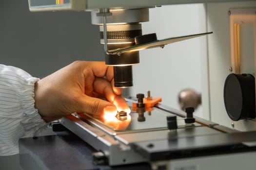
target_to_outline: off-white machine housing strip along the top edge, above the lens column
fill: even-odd
[[[223,0],[29,0],[29,7],[31,11],[90,11],[100,8],[133,9],[145,7],[148,8],[168,4],[207,3],[222,1]]]

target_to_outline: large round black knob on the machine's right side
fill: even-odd
[[[252,74],[229,74],[224,84],[224,104],[230,119],[255,118],[255,78]]]

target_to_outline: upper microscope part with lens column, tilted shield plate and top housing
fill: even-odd
[[[169,43],[211,34],[209,32],[158,40],[154,33],[142,35],[141,22],[149,21],[149,8],[160,6],[161,2],[144,2],[133,6],[130,5],[132,2],[128,5],[127,2],[117,1],[113,4],[106,3],[102,8],[98,6],[101,3],[101,1],[86,0],[29,1],[31,11],[90,11],[92,24],[99,25],[100,43],[104,44],[105,63],[114,66],[115,87],[133,86],[132,66],[139,63],[140,50],[164,48]]]

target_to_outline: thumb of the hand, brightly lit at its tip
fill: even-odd
[[[104,114],[116,116],[117,114],[117,107],[113,103],[87,95],[84,95],[82,100],[79,101],[79,110],[92,116]]]

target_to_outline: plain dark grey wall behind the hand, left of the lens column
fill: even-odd
[[[75,60],[104,60],[90,13],[32,13],[27,0],[0,0],[0,64],[42,78]],[[22,170],[19,156],[0,156],[0,170]]]

